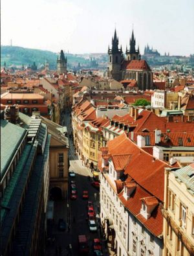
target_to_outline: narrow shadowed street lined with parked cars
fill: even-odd
[[[72,131],[70,124],[70,112],[63,115],[62,125],[67,126],[68,134]],[[100,221],[98,215],[99,204],[99,191],[92,187],[91,181],[88,176],[92,177],[92,172],[87,167],[83,167],[81,159],[75,155],[74,145],[72,139],[69,137],[69,170],[74,170],[76,176],[74,178],[69,177],[70,180],[76,181],[76,187],[78,190],[78,198],[76,200],[70,200],[68,196],[67,201],[60,200],[54,202],[54,224],[52,225],[52,238],[54,241],[47,246],[47,255],[79,255],[78,253],[78,235],[86,235],[89,241],[89,254],[93,254],[93,239],[100,238]],[[89,192],[89,199],[93,202],[94,211],[96,213],[96,224],[98,231],[91,233],[89,231],[89,224],[87,220],[87,199],[82,198],[83,191]],[[68,191],[70,194],[70,191]],[[67,222],[66,231],[58,230],[58,220],[63,218]],[[69,226],[69,229],[68,229]],[[72,251],[67,251],[67,246],[71,244]],[[103,251],[105,252],[104,244],[102,242]],[[60,251],[60,253],[59,253]],[[103,255],[107,255],[103,253]]]

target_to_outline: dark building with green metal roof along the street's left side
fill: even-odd
[[[40,120],[21,114],[8,122],[3,115],[1,255],[44,255],[50,135]]]

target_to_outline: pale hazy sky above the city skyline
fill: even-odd
[[[1,45],[107,52],[114,28],[125,50],[134,26],[143,53],[194,53],[194,0],[1,0]],[[138,46],[136,45],[136,47]]]

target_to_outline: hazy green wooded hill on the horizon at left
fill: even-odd
[[[65,54],[67,56],[67,67],[70,69],[74,66],[87,65],[89,60],[76,56],[74,54]],[[6,62],[6,67],[11,65],[14,66],[27,66],[32,65],[36,62],[38,67],[45,64],[47,60],[50,69],[56,69],[56,60],[58,54],[50,51],[42,51],[38,49],[28,49],[18,46],[3,46],[1,45],[1,67],[3,67],[4,62]]]

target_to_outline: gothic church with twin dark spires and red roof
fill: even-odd
[[[135,49],[135,37],[132,31],[129,49],[126,47],[126,59],[122,51],[122,47],[118,47],[118,37],[116,29],[112,39],[112,49],[108,49],[109,67],[108,76],[117,81],[120,80],[136,80],[138,89],[146,90],[153,87],[153,73],[146,60],[141,60],[139,47]]]

